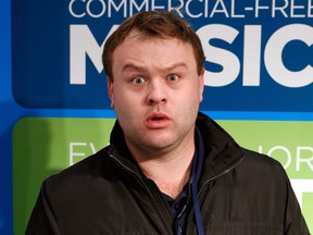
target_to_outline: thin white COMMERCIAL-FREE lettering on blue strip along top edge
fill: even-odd
[[[238,3],[238,4],[237,4]],[[241,9],[239,9],[241,8]],[[254,17],[271,13],[272,17],[312,17],[312,0],[70,0],[68,12],[73,17],[112,17],[123,13],[129,17],[138,11],[174,11],[180,17],[233,17],[245,18],[250,12]],[[240,12],[240,13],[238,13]],[[249,14],[250,15],[250,14]]]

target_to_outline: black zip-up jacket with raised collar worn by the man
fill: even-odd
[[[199,180],[205,234],[310,234],[281,165],[240,148],[199,114],[206,145]],[[197,234],[192,200],[187,234]],[[142,176],[116,122],[111,145],[42,184],[26,234],[174,234],[175,220],[156,185]]]

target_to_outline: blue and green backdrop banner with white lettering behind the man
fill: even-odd
[[[42,181],[109,144],[103,45],[150,10],[190,23],[205,53],[201,111],[281,163],[313,231],[312,0],[3,2],[0,234],[24,234]]]

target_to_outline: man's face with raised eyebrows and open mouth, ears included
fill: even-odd
[[[197,74],[192,47],[133,32],[112,61],[109,96],[130,151],[162,153],[193,145],[203,72]]]

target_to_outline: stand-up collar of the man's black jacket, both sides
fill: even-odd
[[[213,120],[199,112],[197,127],[200,129],[205,158],[200,177],[200,185],[231,170],[243,158],[243,151],[238,144]],[[127,169],[140,174],[139,168],[132,157],[123,129],[116,120],[111,132],[109,153]]]

